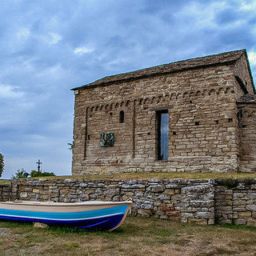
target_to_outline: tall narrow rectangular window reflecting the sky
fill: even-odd
[[[169,114],[168,110],[157,111],[158,118],[158,160],[168,160]]]

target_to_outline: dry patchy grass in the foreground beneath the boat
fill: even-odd
[[[0,255],[256,255],[256,228],[127,217],[113,232],[0,222]]]

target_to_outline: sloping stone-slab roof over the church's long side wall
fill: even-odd
[[[222,54],[214,54],[209,55],[206,57],[201,58],[190,58],[184,61],[180,62],[172,62],[169,64],[164,64],[160,66],[153,66],[150,68],[137,70],[133,72],[128,72],[124,74],[116,74],[107,76],[105,78],[101,78],[95,82],[91,82],[84,86],[76,87],[72,90],[78,90],[82,88],[90,88],[94,86],[102,86],[106,85],[110,82],[118,82],[118,81],[124,81],[124,80],[130,80],[134,78],[143,78],[150,75],[156,75],[156,74],[165,74],[165,73],[172,73],[178,70],[188,70],[192,68],[202,67],[202,66],[211,66],[216,64],[222,64],[227,62],[235,62],[238,58],[241,57],[242,54],[246,54],[246,50],[234,50]]]

